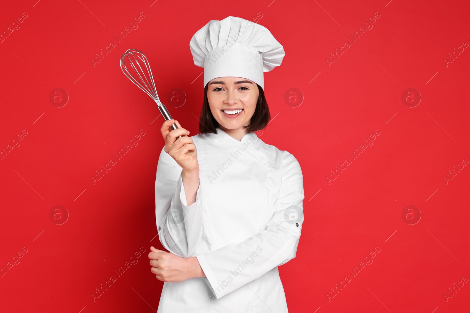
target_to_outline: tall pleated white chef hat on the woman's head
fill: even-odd
[[[281,65],[284,48],[266,27],[240,17],[211,20],[189,42],[204,87],[217,77],[248,78],[264,90],[263,72]]]

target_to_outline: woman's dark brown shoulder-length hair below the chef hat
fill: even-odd
[[[253,116],[251,116],[250,125],[243,126],[243,128],[248,128],[248,132],[264,129],[271,119],[263,88],[261,88],[258,84],[256,85],[258,86],[259,95],[258,101],[256,102],[255,112],[253,113]],[[207,99],[207,90],[209,88],[208,86],[209,83],[207,83],[204,87],[204,102],[201,115],[199,117],[199,133],[217,134],[216,128],[219,127],[219,122],[217,122],[212,115],[211,107],[209,106],[209,100]]]

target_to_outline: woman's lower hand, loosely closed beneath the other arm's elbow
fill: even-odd
[[[150,247],[149,259],[150,271],[162,282],[183,282],[205,276],[196,257],[181,258],[172,252]]]

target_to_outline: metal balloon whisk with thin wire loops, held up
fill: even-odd
[[[166,109],[165,105],[158,99],[157,88],[155,88],[155,82],[153,81],[152,70],[150,69],[149,60],[142,51],[137,49],[128,49],[122,56],[120,61],[121,69],[127,78],[134,84],[147,93],[150,98],[158,105],[160,113],[163,115],[166,121],[171,120],[172,116]],[[178,126],[173,123],[170,126],[172,130],[176,130]],[[183,137],[183,135],[178,136]]]

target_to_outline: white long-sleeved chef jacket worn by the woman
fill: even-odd
[[[164,282],[157,313],[288,312],[277,267],[295,258],[304,221],[298,161],[254,132],[191,138],[196,202],[187,205],[182,168],[162,148],[156,221],[164,248],[196,256],[206,277]]]

